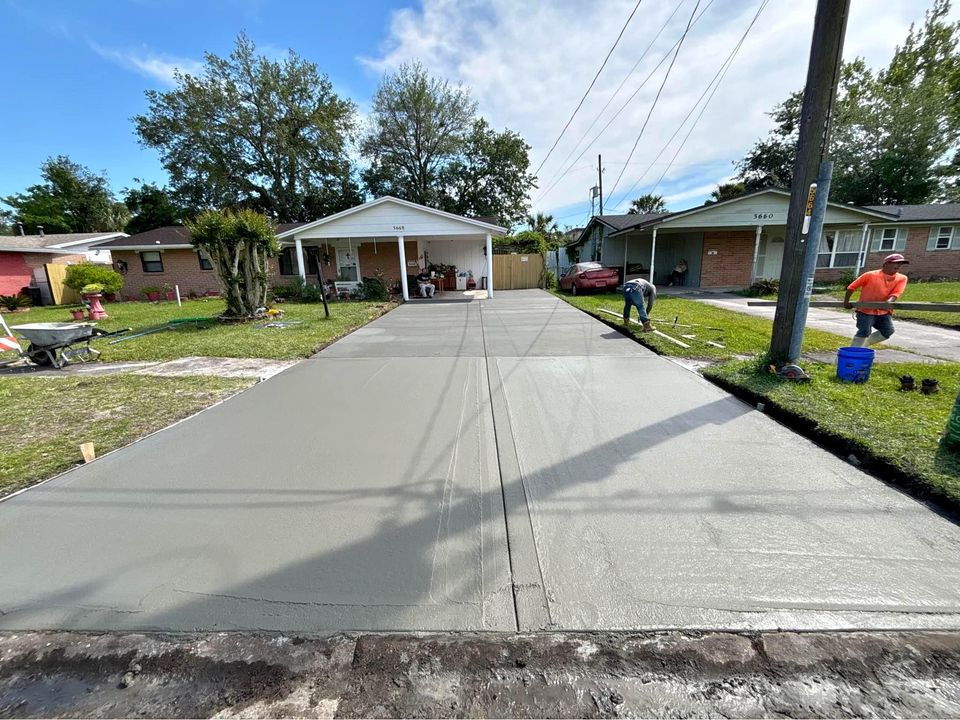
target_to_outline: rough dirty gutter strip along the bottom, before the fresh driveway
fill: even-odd
[[[957,717],[956,633],[0,636],[0,717]]]

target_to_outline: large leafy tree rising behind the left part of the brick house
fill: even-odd
[[[137,134],[188,206],[294,222],[362,201],[347,156],[353,103],[293,51],[270,60],[241,33],[229,57],[208,53],[198,76],[178,72],[174,90],[146,95]]]

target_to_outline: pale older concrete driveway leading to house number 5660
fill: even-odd
[[[732,293],[710,293],[702,291],[684,291],[677,293],[664,293],[675,295],[677,297],[697,300],[699,302],[714,305],[716,307],[741,312],[746,315],[756,315],[773,320],[773,314],[776,308],[773,307],[750,307],[748,302],[755,298],[746,298]],[[853,318],[849,312],[836,312],[825,310],[823,308],[810,308],[807,314],[807,327],[825,330],[826,332],[842,335],[844,337],[853,337],[856,327]],[[933,327],[931,325],[920,325],[909,320],[896,321],[896,333],[890,340],[890,344],[906,350],[909,353],[921,355],[924,358],[935,358],[938,360],[947,360],[950,362],[960,362],[960,332],[948,330],[946,328]],[[875,349],[883,350],[884,345],[874,346]],[[896,353],[894,356],[893,353]],[[896,350],[886,349],[883,355],[890,355],[888,361],[894,362],[923,362],[922,358],[911,358],[904,353],[898,353]],[[880,360],[880,358],[878,358]]]

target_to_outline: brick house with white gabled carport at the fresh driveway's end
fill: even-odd
[[[310,223],[277,226],[280,255],[271,259],[273,284],[296,277],[351,286],[382,274],[400,284],[409,299],[409,276],[430,264],[453,265],[471,273],[477,286],[491,273],[493,236],[507,229],[489,218],[466,218],[423,205],[382,197]],[[162,227],[101,243],[114,268],[125,276],[123,296],[137,297],[147,286],[179,286],[206,294],[218,283],[209,258],[190,244],[185,227]]]

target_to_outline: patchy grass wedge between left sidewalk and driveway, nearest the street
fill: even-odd
[[[80,444],[98,455],[192,415],[250,380],[4,377],[0,380],[0,495],[82,462]]]

